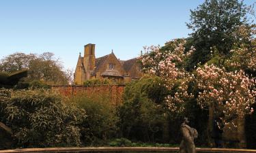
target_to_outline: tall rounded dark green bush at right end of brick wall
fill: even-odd
[[[167,89],[161,83],[159,78],[145,77],[126,86],[124,104],[119,107],[119,126],[124,137],[144,142],[166,141],[167,114],[161,103]]]

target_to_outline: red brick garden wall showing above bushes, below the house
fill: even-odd
[[[115,105],[122,103],[124,87],[125,85],[51,86],[53,90],[58,90],[64,96],[77,94],[109,95],[111,97],[111,102]]]

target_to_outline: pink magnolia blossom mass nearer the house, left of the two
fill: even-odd
[[[145,73],[158,75],[165,80],[165,86],[173,93],[166,97],[166,102],[171,112],[182,112],[184,102],[193,97],[187,92],[188,82],[193,80],[184,69],[184,61],[195,50],[193,47],[185,52],[186,41],[173,40],[168,42],[173,50],[160,50],[160,46],[144,47],[144,54],[139,57]],[[177,87],[177,88],[176,88]]]

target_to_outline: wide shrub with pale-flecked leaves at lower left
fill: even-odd
[[[14,147],[79,146],[83,109],[52,90],[1,90],[1,122],[9,126]],[[43,132],[42,132],[43,131]]]

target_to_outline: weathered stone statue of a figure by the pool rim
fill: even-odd
[[[188,126],[188,118],[184,118],[184,122],[181,125],[182,142],[180,143],[180,153],[195,153],[194,139],[198,137],[196,129]]]

